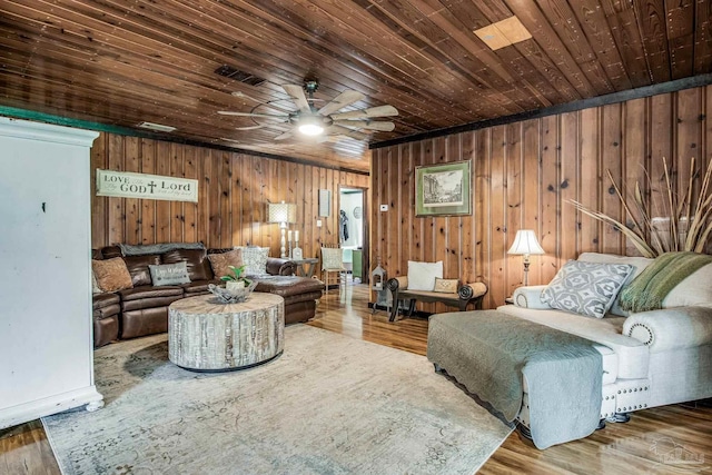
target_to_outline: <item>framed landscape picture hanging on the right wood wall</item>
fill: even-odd
[[[415,216],[472,214],[472,160],[415,168]]]

